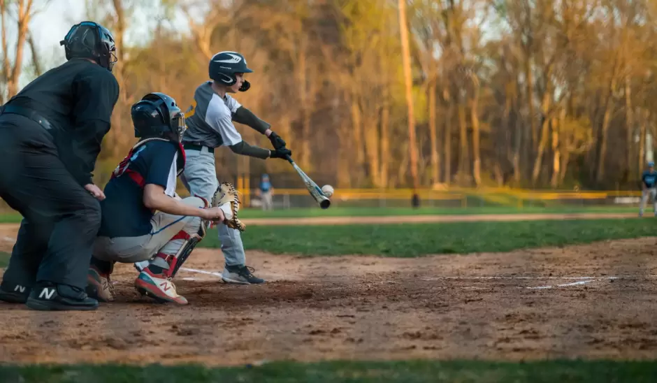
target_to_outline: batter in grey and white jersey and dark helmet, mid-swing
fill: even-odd
[[[188,114],[187,131],[182,138],[187,152],[187,166],[181,180],[193,196],[210,198],[217,189],[215,147],[227,146],[236,154],[259,159],[285,159],[291,152],[285,141],[269,129],[270,124],[260,120],[250,110],[233,99],[229,93],[246,92],[250,83],[244,73],[253,71],[247,67],[243,55],[238,52],[219,52],[209,64],[212,81],[204,82],[194,92],[194,112]],[[263,149],[246,143],[233,125],[233,121],[245,124],[269,138],[274,150]],[[264,282],[253,275],[246,266],[244,245],[240,231],[219,225],[219,240],[226,260],[222,279],[227,283],[258,284]],[[144,263],[137,263],[140,270]]]

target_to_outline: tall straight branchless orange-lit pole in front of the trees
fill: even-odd
[[[402,62],[404,67],[404,82],[406,85],[406,106],[408,110],[408,150],[410,155],[410,170],[413,178],[413,190],[415,191],[419,189],[419,179],[417,178],[417,143],[415,138],[415,112],[413,108],[411,57],[408,41],[408,24],[406,22],[406,0],[398,0],[398,7]]]

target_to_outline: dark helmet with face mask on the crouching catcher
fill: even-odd
[[[175,100],[164,93],[149,93],[143,96],[131,109],[135,137],[164,137],[174,133],[178,142],[185,133],[185,114],[175,104]]]

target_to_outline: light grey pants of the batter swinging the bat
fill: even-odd
[[[208,152],[207,147],[203,147],[202,150],[186,150],[185,154],[187,157],[185,173],[180,176],[180,180],[192,196],[212,201],[212,195],[219,187],[215,171],[215,154]],[[240,231],[224,224],[218,224],[216,227],[226,266],[243,266],[246,263],[246,255]]]

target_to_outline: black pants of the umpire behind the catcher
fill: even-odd
[[[100,204],[59,159],[51,134],[21,115],[0,115],[0,197],[24,217],[3,285],[84,289]]]

